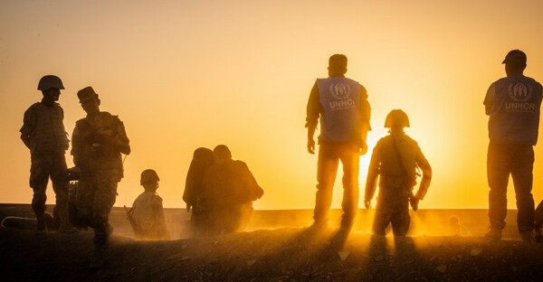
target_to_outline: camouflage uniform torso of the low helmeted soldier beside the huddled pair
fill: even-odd
[[[166,240],[169,238],[162,198],[155,192],[144,192],[132,204],[132,216],[138,224],[140,239]]]

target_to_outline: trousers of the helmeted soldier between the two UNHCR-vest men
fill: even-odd
[[[386,227],[392,224],[395,236],[405,236],[409,230],[409,200],[406,197],[378,197],[376,215],[373,223],[373,233],[385,236]]]

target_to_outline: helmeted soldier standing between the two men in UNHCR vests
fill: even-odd
[[[416,141],[405,135],[404,127],[409,127],[409,118],[403,110],[392,110],[386,116],[385,127],[390,128],[389,135],[377,142],[367,169],[364,205],[367,209],[371,206],[379,177],[373,233],[385,236],[386,227],[391,223],[395,236],[405,236],[411,221],[409,202],[416,211],[418,201],[424,199],[430,186],[432,167]],[[417,167],[422,170],[423,179],[414,195]]]

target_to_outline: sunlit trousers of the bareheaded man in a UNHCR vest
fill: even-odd
[[[319,162],[317,164],[317,193],[313,219],[316,223],[329,219],[332,191],[338,172],[338,164],[343,165],[343,215],[341,225],[352,225],[358,210],[358,161],[359,147],[353,143],[319,144]]]

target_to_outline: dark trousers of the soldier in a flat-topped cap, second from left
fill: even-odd
[[[119,174],[81,174],[75,204],[78,221],[94,229],[94,244],[104,246],[110,237],[110,211],[117,197]]]

